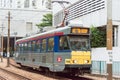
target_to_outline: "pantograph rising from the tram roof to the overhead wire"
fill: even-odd
[[[70,2],[68,2],[68,1],[52,1],[52,3],[59,3],[60,4],[60,6],[63,8],[63,10],[64,10],[64,18],[63,18],[63,20],[62,20],[62,23],[60,24],[60,27],[64,27],[65,26],[65,19],[66,19],[66,17],[67,17],[67,15],[69,14],[69,11],[65,8],[65,5],[64,5],[64,3],[65,4],[70,4]]]

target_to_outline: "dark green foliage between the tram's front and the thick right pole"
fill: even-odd
[[[106,30],[91,28],[91,47],[105,47],[106,46]]]

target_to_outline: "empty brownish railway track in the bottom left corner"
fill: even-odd
[[[11,72],[11,71],[2,69],[2,68],[0,68],[0,71],[2,71],[2,72],[4,73],[4,75],[6,75],[6,76],[7,76],[7,75],[8,75],[8,76],[11,76],[11,77],[12,77],[13,79],[15,79],[15,80],[31,80],[31,79],[29,79],[29,78],[27,78],[27,77],[21,76],[21,75],[19,75],[19,74],[17,74],[17,73],[14,73],[14,72]],[[0,80],[8,80],[8,79],[0,76]]]

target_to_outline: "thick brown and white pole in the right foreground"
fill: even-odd
[[[112,25],[112,0],[107,0],[107,80],[112,80],[112,44],[113,44],[113,25]]]

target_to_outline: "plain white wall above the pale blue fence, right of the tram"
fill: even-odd
[[[120,61],[120,48],[113,47],[112,50],[113,61]],[[92,48],[92,60],[94,61],[107,61],[109,59],[106,47]]]

